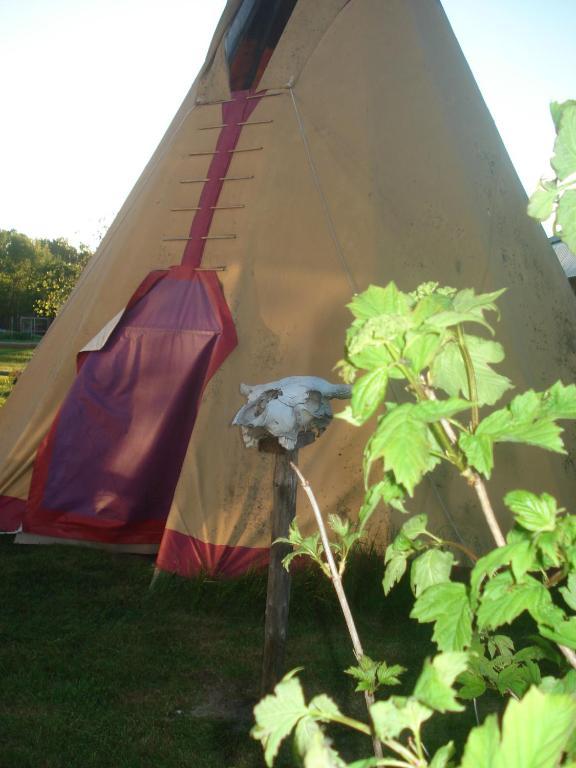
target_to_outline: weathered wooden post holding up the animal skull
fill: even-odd
[[[264,441],[263,441],[264,442]],[[268,442],[268,441],[266,441]],[[298,461],[298,449],[288,451],[274,440],[261,450],[274,452],[274,500],[272,507],[272,542],[288,536],[290,523],[296,514],[298,480],[290,467]],[[262,664],[262,695],[270,693],[283,674],[288,610],[290,607],[290,573],[282,560],[291,551],[289,544],[271,544],[266,594],[266,623],[264,628],[264,660]]]

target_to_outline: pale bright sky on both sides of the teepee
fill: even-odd
[[[548,103],[576,98],[576,0],[442,4],[532,191],[551,154]],[[0,229],[94,245],[194,80],[224,5],[0,0]]]

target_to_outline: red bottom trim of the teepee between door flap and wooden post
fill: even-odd
[[[211,576],[240,576],[255,568],[268,565],[268,547],[229,547],[209,544],[178,531],[166,529],[156,559],[163,571],[190,578],[200,573]]]

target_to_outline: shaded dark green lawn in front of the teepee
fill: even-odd
[[[259,694],[265,576],[234,582],[163,575],[151,560],[0,541],[0,765],[4,768],[256,768],[248,731]],[[365,651],[409,668],[429,630],[408,618],[401,586],[381,593],[381,564],[361,558],[347,579]],[[350,644],[328,583],[295,574],[286,668],[304,666],[308,695],[325,691],[365,718],[342,670]],[[481,704],[487,708],[493,704]],[[485,710],[486,711],[486,710]],[[472,711],[425,730],[429,748],[462,740]],[[349,757],[365,739],[331,730]],[[289,746],[278,763],[293,764]]]

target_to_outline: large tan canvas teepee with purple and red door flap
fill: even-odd
[[[157,551],[184,575],[264,563],[272,458],[230,427],[240,383],[333,379],[345,304],[370,283],[507,287],[505,372],[522,388],[572,381],[576,304],[525,210],[438,0],[229,0],[0,414],[3,527]],[[325,511],[358,509],[367,430],[334,423],[302,452]],[[563,457],[510,447],[498,466],[495,499],[574,497]],[[449,473],[411,507],[448,538],[489,541]],[[383,514],[374,537],[395,524]]]

